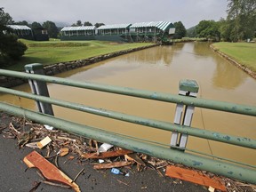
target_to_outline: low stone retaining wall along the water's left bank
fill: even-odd
[[[158,44],[151,44],[148,46],[141,46],[133,49],[128,49],[128,50],[123,50],[119,52],[111,52],[107,54],[103,54],[100,56],[95,56],[91,58],[87,58],[84,60],[72,60],[72,61],[67,61],[67,62],[60,62],[60,63],[55,63],[51,65],[45,65],[44,66],[44,74],[46,76],[54,76],[56,74],[72,70],[74,68],[81,68],[87,65],[91,65],[96,62],[100,62],[101,60],[108,60],[110,58],[114,58],[120,55],[124,55],[130,52],[137,52],[140,50],[148,49],[154,46],[157,46]],[[11,76],[0,76],[0,86],[3,87],[14,87],[20,84],[25,84],[28,83],[27,79],[20,79],[20,78],[15,78]]]

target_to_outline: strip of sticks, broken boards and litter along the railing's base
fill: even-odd
[[[37,167],[40,170],[41,173],[38,172],[38,174],[42,177],[44,183],[63,188],[73,188],[75,191],[80,191],[75,181],[84,169],[76,175],[75,179],[71,180],[59,169],[58,158],[60,156],[68,156],[65,162],[76,159],[80,164],[92,164],[95,170],[109,169],[113,174],[120,174],[126,177],[130,176],[129,173],[132,172],[131,166],[133,165],[136,166],[138,172],[150,168],[156,170],[161,177],[164,177],[162,172],[165,172],[165,176],[177,179],[173,181],[173,184],[182,184],[181,180],[188,180],[205,185],[206,178],[208,183],[210,183],[209,185],[205,185],[209,187],[209,191],[256,191],[254,185],[246,185],[224,177],[217,178],[209,172],[199,172],[188,167],[185,168],[180,164],[173,164],[156,157],[134,153],[128,149],[82,138],[68,132],[54,129],[48,130],[42,124],[34,124],[15,116],[12,116],[12,122],[8,126],[0,124],[1,133],[4,138],[17,139],[19,148],[35,148],[35,151],[24,157],[24,162],[28,167]],[[39,153],[43,154],[43,150],[44,156],[41,156]],[[55,165],[49,161],[52,161]],[[54,172],[50,172],[47,167],[52,167]],[[124,171],[122,167],[130,171]],[[193,176],[189,178],[189,173],[198,175],[196,178],[199,178],[199,175],[200,177],[202,176],[200,178],[201,181],[195,181],[195,177],[193,178]],[[211,181],[212,178],[214,181],[219,180],[219,188]],[[211,183],[214,186],[211,186]],[[34,189],[39,185],[40,182],[36,182]]]

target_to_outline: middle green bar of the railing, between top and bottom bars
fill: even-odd
[[[167,122],[156,121],[148,118],[142,118],[140,116],[130,116],[124,113],[118,113],[116,111],[111,111],[111,110],[101,109],[101,108],[92,108],[82,104],[68,102],[65,100],[56,100],[53,98],[39,96],[39,95],[31,94],[28,92],[20,92],[20,91],[16,91],[16,90],[4,88],[4,87],[0,87],[0,92],[10,93],[10,94],[17,95],[20,97],[25,97],[31,100],[39,100],[47,103],[52,103],[54,105],[58,105],[64,108],[72,108],[72,109],[84,111],[84,112],[91,113],[98,116],[106,116],[109,118],[114,118],[117,120],[129,122],[132,124],[141,124],[141,125],[150,126],[150,127],[154,127],[154,128],[165,130],[165,131],[171,131],[171,132],[186,133],[188,135],[196,136],[199,138],[216,140],[216,141],[229,143],[236,146],[241,146],[244,148],[253,148],[253,149],[256,148],[256,140],[252,140],[249,138],[236,137],[232,135],[222,134],[220,132],[202,130],[195,127],[180,126],[178,124],[171,124]]]

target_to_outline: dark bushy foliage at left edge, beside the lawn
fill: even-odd
[[[0,8],[0,66],[19,60],[27,50],[27,46],[18,41],[17,36],[7,33],[11,32],[11,28],[6,27],[8,24],[13,24],[12,17]]]

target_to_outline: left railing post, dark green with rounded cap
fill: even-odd
[[[29,74],[44,75],[44,67],[40,63],[28,64],[25,66],[25,70],[26,73]],[[49,97],[47,84],[45,82],[28,79],[28,83],[34,94]],[[39,112],[54,116],[51,104],[36,100],[36,105]]]

